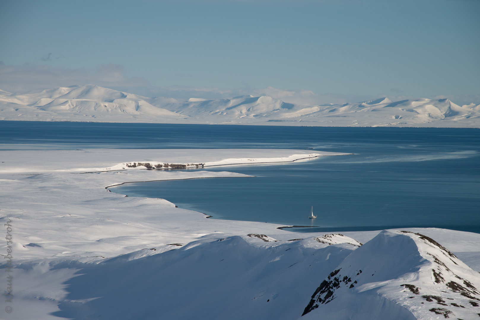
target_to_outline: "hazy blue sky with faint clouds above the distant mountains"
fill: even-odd
[[[1,0],[0,89],[478,103],[479,16],[479,0]]]

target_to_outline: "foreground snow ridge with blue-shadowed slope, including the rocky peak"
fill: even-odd
[[[150,254],[143,258],[77,264],[82,275],[67,282],[70,293],[57,315],[112,320],[135,315],[182,320],[478,318],[479,273],[431,238],[383,231],[359,248],[352,238],[325,236],[336,237],[337,244],[318,237],[281,241],[209,235],[160,254],[144,249]],[[321,284],[315,289],[316,283]],[[125,295],[120,290],[125,287],[139,290]]]

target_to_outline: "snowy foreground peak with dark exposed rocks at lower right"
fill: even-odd
[[[430,237],[383,231],[320,283],[302,316],[317,319],[355,299],[357,305],[368,303],[377,319],[409,319],[407,310],[412,319],[477,319],[479,288],[479,273]],[[384,310],[388,304],[390,316]],[[359,309],[343,308],[338,319],[350,319]]]

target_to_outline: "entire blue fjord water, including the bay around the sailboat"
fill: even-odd
[[[3,150],[284,148],[353,153],[201,169],[253,178],[126,183],[110,190],[164,198],[211,219],[318,226],[287,229],[298,232],[441,227],[480,233],[479,129],[0,121],[0,136]],[[308,218],[311,206],[317,219]]]

